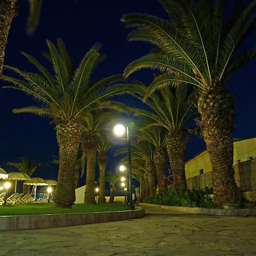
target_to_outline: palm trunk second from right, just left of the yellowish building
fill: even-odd
[[[183,137],[182,130],[169,131],[166,148],[170,159],[174,187],[187,189],[185,177],[185,151],[187,141]]]

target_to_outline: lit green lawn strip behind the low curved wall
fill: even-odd
[[[127,210],[126,204],[75,204],[72,209],[55,208],[53,203],[1,205],[0,216],[6,215],[37,215],[59,213],[115,212]]]

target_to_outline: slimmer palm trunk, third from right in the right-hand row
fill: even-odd
[[[163,147],[156,147],[154,152],[154,164],[156,177],[158,179],[158,191],[162,193],[166,191],[167,184],[163,184],[162,180],[164,180],[164,175],[166,175],[166,165],[167,165],[167,155],[166,150]]]

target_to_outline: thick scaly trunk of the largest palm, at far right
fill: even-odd
[[[210,155],[214,201],[218,207],[238,200],[233,169],[233,113],[231,94],[220,86],[201,94],[201,130]]]

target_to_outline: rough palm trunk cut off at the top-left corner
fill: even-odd
[[[0,1],[0,77],[3,72],[3,62],[5,60],[5,48],[11,27],[11,22],[16,14],[18,0]]]

